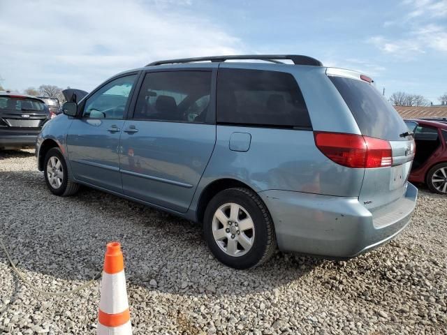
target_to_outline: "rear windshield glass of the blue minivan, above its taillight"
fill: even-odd
[[[351,110],[362,135],[388,141],[406,140],[404,120],[372,84],[346,77],[329,77]]]

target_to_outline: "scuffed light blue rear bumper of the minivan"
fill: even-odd
[[[274,221],[279,249],[351,258],[399,234],[411,220],[418,189],[374,212],[358,198],[291,191],[259,193]]]

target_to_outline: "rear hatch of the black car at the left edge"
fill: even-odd
[[[0,131],[36,132],[48,118],[48,107],[37,98],[0,96]]]

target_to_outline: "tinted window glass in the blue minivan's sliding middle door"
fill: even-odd
[[[134,119],[205,122],[210,110],[211,71],[147,73]]]

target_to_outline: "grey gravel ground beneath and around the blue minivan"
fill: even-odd
[[[52,195],[34,151],[0,153],[0,237],[45,290],[101,269],[124,248],[133,334],[447,334],[447,198],[420,191],[400,237],[346,262],[277,253],[236,271],[214,260],[200,228],[88,188]],[[98,283],[36,295],[0,251],[0,333],[96,334]]]

